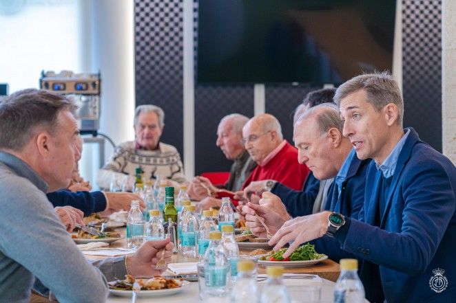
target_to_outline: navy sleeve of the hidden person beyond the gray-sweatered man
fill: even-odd
[[[94,212],[103,212],[106,208],[106,198],[103,192],[70,192],[69,190],[57,190],[46,194],[54,207],[72,206],[89,216]]]

